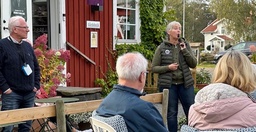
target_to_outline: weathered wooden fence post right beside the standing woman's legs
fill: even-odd
[[[164,124],[167,123],[167,108],[168,108],[168,99],[169,99],[169,90],[163,90],[163,99],[162,99],[162,116]]]

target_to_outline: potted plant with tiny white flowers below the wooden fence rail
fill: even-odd
[[[92,129],[89,117],[92,116],[92,112],[83,112],[70,114],[69,119],[74,124],[77,124],[80,130]]]

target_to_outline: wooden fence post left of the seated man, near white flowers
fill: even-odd
[[[65,105],[63,100],[56,101],[56,116],[58,132],[66,132]]]

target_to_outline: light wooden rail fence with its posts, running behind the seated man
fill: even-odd
[[[164,93],[157,93],[157,94],[142,96],[141,99],[152,102],[152,103],[162,102],[162,116],[163,116],[164,122],[166,123],[168,91],[164,91]],[[56,106],[58,105],[57,103],[58,101],[57,101],[56,104],[49,105],[49,106],[0,111],[0,125],[13,123],[13,122],[26,121],[26,120],[53,117],[53,116],[56,116],[57,113],[61,113],[61,111],[63,112],[63,110],[64,110],[63,113],[65,114],[89,112],[97,109],[102,101],[103,99],[84,101],[84,102],[75,102],[75,103],[65,103],[65,104],[62,101],[64,108],[60,108],[60,106]],[[61,116],[65,117],[63,115]],[[63,124],[59,123],[60,120],[61,120],[60,117],[58,117],[57,115],[58,132],[63,132],[59,129],[62,129],[66,125],[65,125],[65,122],[64,123],[62,122]],[[65,121],[65,118],[64,118],[64,121]],[[62,125],[62,126],[59,127],[59,125]]]

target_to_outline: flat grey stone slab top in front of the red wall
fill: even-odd
[[[58,87],[57,96],[77,96],[101,92],[102,88]]]

